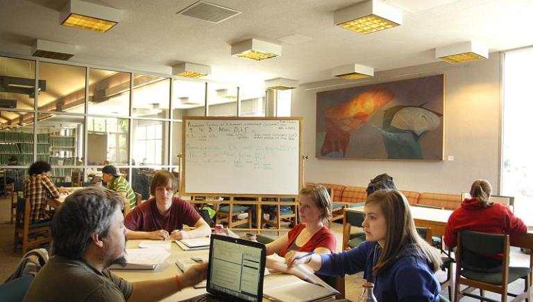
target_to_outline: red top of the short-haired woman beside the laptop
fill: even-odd
[[[280,251],[280,256],[285,257],[285,254],[287,253],[287,248],[291,246],[292,242],[296,240],[296,237],[302,233],[302,230],[305,228],[305,224],[298,224],[292,230],[289,230],[289,240],[283,246],[283,248]],[[303,246],[298,247],[298,251],[303,252],[310,252],[314,251],[314,249],[319,247],[324,247],[326,249],[329,249],[332,253],[335,253],[335,246],[337,245],[337,240],[335,239],[335,235],[333,232],[329,229],[323,226],[318,232],[314,233],[310,240],[307,240]]]

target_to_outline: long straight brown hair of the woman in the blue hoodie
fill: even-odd
[[[371,203],[380,205],[387,221],[383,251],[373,267],[374,276],[378,276],[380,271],[392,265],[398,253],[409,244],[413,244],[418,255],[433,265],[433,271],[441,267],[442,260],[439,253],[416,233],[409,203],[400,191],[378,190],[366,198],[365,205]]]

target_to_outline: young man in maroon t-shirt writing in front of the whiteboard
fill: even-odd
[[[176,177],[169,171],[160,170],[152,178],[150,193],[155,196],[137,205],[126,216],[128,239],[174,240],[205,237],[211,228],[194,207],[178,197]],[[194,226],[194,230],[183,231],[183,224]]]

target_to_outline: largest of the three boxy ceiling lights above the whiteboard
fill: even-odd
[[[281,45],[257,39],[249,39],[233,44],[231,55],[249,60],[266,60],[281,56]]]

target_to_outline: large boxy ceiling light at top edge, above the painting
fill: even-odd
[[[335,24],[357,33],[375,33],[402,25],[402,10],[381,0],[369,0],[336,10]]]

